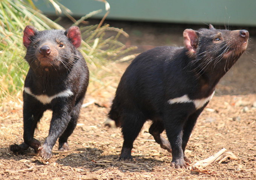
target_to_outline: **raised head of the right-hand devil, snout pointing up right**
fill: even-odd
[[[209,29],[186,29],[183,37],[190,58],[203,66],[222,63],[226,65],[225,71],[228,71],[246,50],[249,33],[247,30],[215,29],[210,24]]]

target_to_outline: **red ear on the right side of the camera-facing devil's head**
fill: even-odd
[[[81,44],[81,31],[79,30],[79,27],[77,26],[71,26],[68,28],[64,33],[72,42],[72,44],[75,46],[75,48],[78,48]]]

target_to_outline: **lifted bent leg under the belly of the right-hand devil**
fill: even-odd
[[[149,128],[149,133],[154,137],[155,142],[160,144],[160,147],[163,149],[166,149],[168,152],[172,152],[172,147],[171,144],[168,140],[166,140],[163,136],[160,134],[165,130],[165,127],[163,126],[162,121],[154,121],[150,128]]]

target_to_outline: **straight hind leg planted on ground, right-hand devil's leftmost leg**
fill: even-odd
[[[136,114],[126,114],[122,121],[122,133],[123,133],[123,147],[119,159],[132,159],[131,150],[133,148],[133,142],[139,135],[143,124],[145,123],[145,117]]]

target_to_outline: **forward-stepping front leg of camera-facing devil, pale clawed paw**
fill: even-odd
[[[61,103],[60,103],[61,104]],[[44,144],[38,148],[40,156],[44,160],[49,160],[52,157],[52,148],[57,139],[66,130],[70,122],[70,108],[58,105],[53,108],[52,120],[50,123],[49,135]]]

